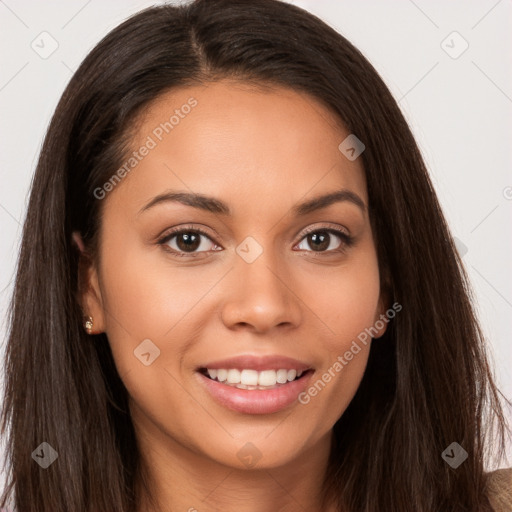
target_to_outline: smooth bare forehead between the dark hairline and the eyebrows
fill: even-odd
[[[367,201],[361,159],[338,149],[349,133],[302,92],[229,80],[184,87],[154,100],[135,128],[137,161],[112,203],[138,209],[167,189],[218,196],[240,213],[339,188]]]

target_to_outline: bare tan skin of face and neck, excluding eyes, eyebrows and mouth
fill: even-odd
[[[296,203],[340,188],[368,205],[361,158],[340,152],[349,132],[314,98],[228,80],[155,100],[133,149],[191,96],[197,106],[103,199],[100,262],[86,270],[83,309],[93,332],[107,333],[163,510],[320,511],[332,427],[360,384],[370,344],[310,403],[273,414],[223,407],[196,368],[280,354],[310,362],[315,382],[386,311],[367,211],[343,201],[291,214]],[[177,202],[139,213],[170,189],[214,196],[233,214]],[[190,224],[211,238],[201,237],[199,257],[158,245],[159,235]],[[355,241],[336,251],[344,241],[330,235],[330,253],[318,252],[308,227],[346,230]],[[247,236],[263,249],[252,263],[235,251]],[[179,240],[167,246],[183,252]],[[145,339],[160,349],[149,366],[134,357]],[[262,455],[252,469],[237,457],[247,442]]]

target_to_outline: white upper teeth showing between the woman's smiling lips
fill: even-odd
[[[306,374],[311,372],[311,369],[297,371],[294,369],[288,370],[284,368],[279,370],[263,371],[236,368],[199,369],[199,373],[210,380],[219,382],[226,386],[250,391],[275,389],[286,386],[290,382],[304,378]]]

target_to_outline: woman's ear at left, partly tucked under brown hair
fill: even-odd
[[[73,231],[72,237],[74,245],[79,251],[77,299],[84,316],[90,316],[93,319],[91,334],[99,334],[105,331],[105,314],[98,270],[87,252],[80,233]]]

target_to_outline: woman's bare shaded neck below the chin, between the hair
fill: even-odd
[[[137,436],[142,457],[137,510],[334,512],[332,505],[322,508],[331,433],[281,466],[240,469],[194,452],[154,426],[144,428]]]

